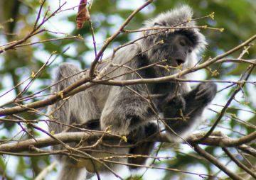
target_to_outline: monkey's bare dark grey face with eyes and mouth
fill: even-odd
[[[164,40],[164,49],[167,49],[167,53],[164,53],[164,58],[167,60],[167,64],[178,67],[185,63],[191,57],[193,52],[193,43],[191,40],[182,34],[173,34]],[[165,50],[166,51],[166,50]]]

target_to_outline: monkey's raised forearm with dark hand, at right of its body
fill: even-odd
[[[169,96],[164,105],[164,120],[169,127],[169,137],[176,140],[169,128],[175,133],[186,137],[200,123],[204,108],[213,100],[217,91],[215,84],[199,84],[188,94]]]

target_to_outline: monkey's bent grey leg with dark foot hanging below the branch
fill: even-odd
[[[139,91],[142,88],[136,89],[138,86],[133,86],[133,89]],[[140,91],[140,94],[143,94]],[[159,130],[155,123],[151,123],[155,118],[151,106],[148,101],[137,96],[125,87],[112,87],[110,96],[107,99],[105,108],[102,111],[101,127],[102,130],[110,127],[112,133],[117,135],[127,135],[127,140],[136,144],[129,150],[130,154],[149,155],[154,147],[154,142],[142,142],[146,137]],[[128,158],[131,164],[144,164],[146,157]],[[130,167],[136,169],[136,166]]]

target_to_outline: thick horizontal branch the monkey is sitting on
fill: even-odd
[[[203,137],[204,133],[197,133],[193,134],[188,137],[188,142],[195,143]],[[81,142],[81,140],[98,140],[102,136],[102,133],[85,133],[85,132],[71,132],[71,133],[59,133],[55,134],[58,140],[62,142]],[[250,135],[246,135],[240,137],[239,139],[232,139],[223,135],[220,132],[215,132],[210,137],[207,137],[206,140],[200,141],[201,145],[212,145],[212,146],[220,146],[220,147],[235,147],[236,145],[238,148],[249,150],[247,145],[241,145],[242,143],[250,142],[250,140],[255,140],[256,133],[252,133]],[[113,135],[105,135],[104,140],[119,140],[120,137],[113,136]],[[158,137],[154,137],[154,141],[159,142],[171,142],[169,141],[165,135],[159,135]],[[26,150],[30,150],[30,147],[48,147],[50,145],[57,145],[58,142],[51,137],[39,137],[30,140],[23,140],[19,142],[9,143],[9,144],[2,144],[0,145],[1,152],[22,152]],[[241,149],[241,150],[242,150]],[[255,154],[255,151],[250,150],[250,154]]]

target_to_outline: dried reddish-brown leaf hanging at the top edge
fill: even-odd
[[[82,28],[86,21],[90,20],[90,13],[86,7],[87,0],[81,0],[78,8],[78,16],[76,18],[77,28]]]

